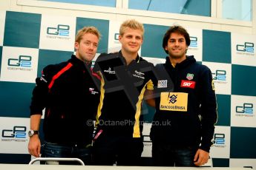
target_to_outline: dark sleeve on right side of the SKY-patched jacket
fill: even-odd
[[[214,135],[214,124],[217,123],[217,101],[211,70],[203,66],[200,78],[200,116],[202,140],[200,149],[209,152]]]

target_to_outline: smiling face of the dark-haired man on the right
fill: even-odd
[[[171,58],[186,58],[186,49],[188,48],[186,44],[186,39],[184,35],[179,33],[171,33],[165,50]]]

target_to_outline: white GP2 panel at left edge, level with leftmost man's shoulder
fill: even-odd
[[[38,58],[38,49],[3,47],[0,81],[34,83]]]

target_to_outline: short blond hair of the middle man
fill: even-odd
[[[127,28],[131,28],[133,30],[141,30],[142,35],[144,34],[143,24],[141,24],[139,21],[136,21],[135,19],[128,19],[124,21],[119,29],[119,35],[124,35]]]

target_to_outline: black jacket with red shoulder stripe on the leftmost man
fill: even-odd
[[[99,103],[99,76],[91,66],[72,55],[70,60],[48,65],[36,87],[30,105],[30,115],[45,109],[45,140],[59,144],[91,143],[93,124]],[[98,84],[98,85],[97,85]]]

